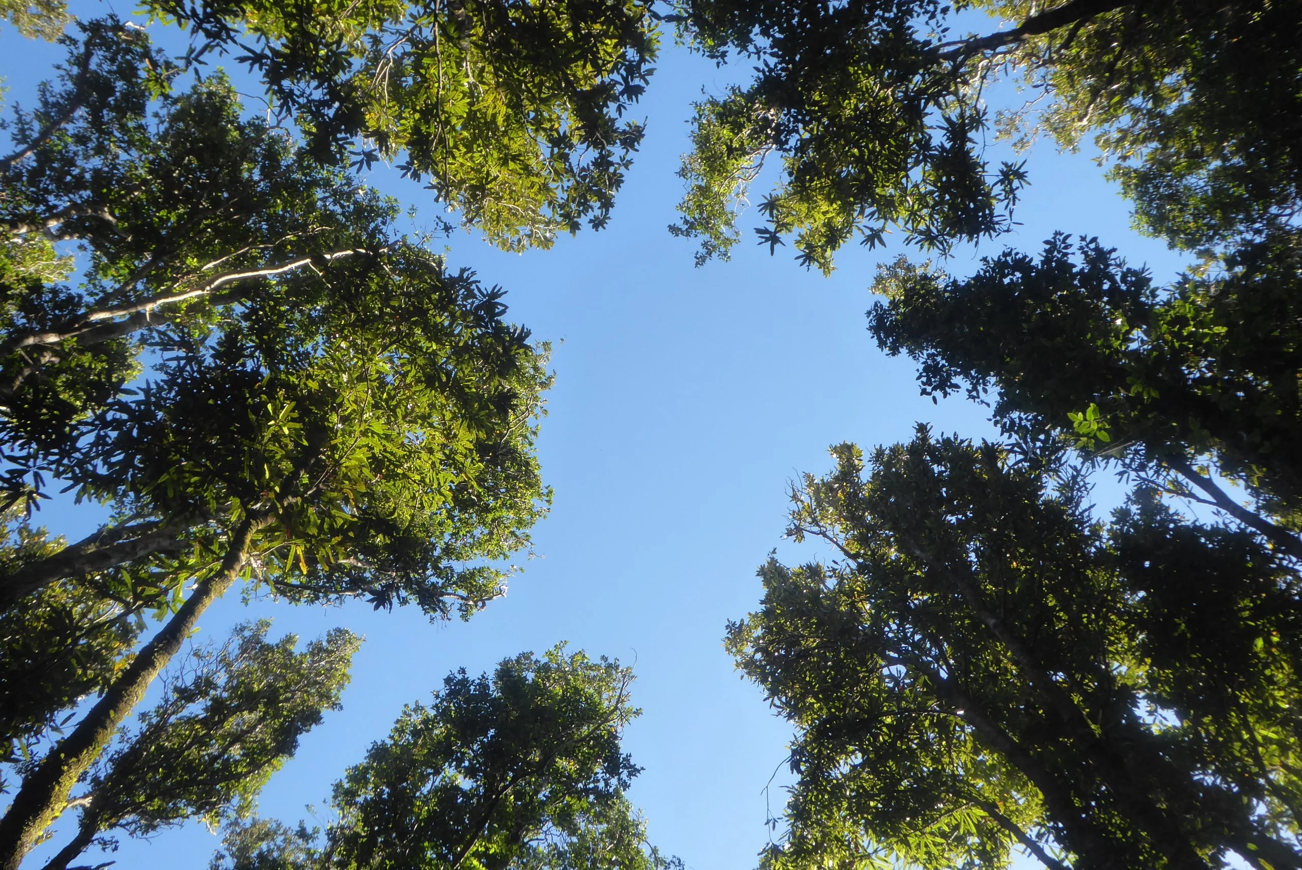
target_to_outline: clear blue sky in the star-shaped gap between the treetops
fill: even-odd
[[[118,12],[128,12],[125,3]],[[29,102],[61,56],[12,29],[0,35],[0,52],[7,105]],[[789,247],[769,257],[750,237],[733,262],[693,267],[691,244],[665,231],[682,191],[674,171],[690,102],[729,78],[672,46],[658,66],[642,103],[647,138],[608,229],[523,255],[465,233],[448,241],[452,266],[501,284],[510,318],[553,345],[556,387],[539,451],[555,505],[535,529],[539,557],[523,564],[509,594],[469,623],[437,625],[414,608],[246,607],[236,595],[203,619],[201,638],[210,639],[260,616],[275,619],[275,637],[306,639],[333,625],[366,636],[344,710],[307,735],[275,776],[260,801],[264,815],[311,818],[305,805],[323,806],[344,767],[450,669],[478,672],[569,641],[635,666],[634,701],[644,712],[625,744],[646,768],[630,797],[652,841],[691,870],[754,867],[767,814],[781,806],[789,729],[740,679],[721,638],[727,620],[756,604],[755,568],[771,550],[785,561],[814,556],[781,538],[788,481],[825,471],[829,444],[904,440],[917,421],[974,438],[990,432],[982,408],[919,397],[911,365],[887,358],[866,331],[876,263],[910,253],[898,241],[884,253],[848,249],[831,279],[798,267]],[[1029,156],[1032,186],[1016,215],[1023,225],[999,245],[962,251],[948,271],[969,274],[976,257],[1004,244],[1039,249],[1055,229],[1099,236],[1159,277],[1177,271],[1177,257],[1129,229],[1125,202],[1087,155],[1059,155],[1040,142]],[[435,214],[428,191],[393,180],[384,186]],[[749,233],[759,223],[753,210],[741,225]],[[42,520],[74,538],[98,513],[57,505]],[[61,827],[66,835],[73,823]],[[216,844],[191,824],[152,843],[126,841],[103,860],[198,870]]]

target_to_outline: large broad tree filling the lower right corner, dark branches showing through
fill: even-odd
[[[797,727],[764,866],[1297,867],[1298,581],[1259,540],[997,445],[852,445],[729,647]]]

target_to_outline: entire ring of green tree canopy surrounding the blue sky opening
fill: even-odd
[[[64,52],[0,161],[0,870],[74,811],[48,870],[195,819],[214,870],[680,866],[625,794],[613,662],[452,675],[312,828],[255,798],[359,638],[255,620],[184,651],[237,590],[434,621],[505,593],[551,501],[549,348],[436,240],[604,228],[665,34],[740,76],[690,107],[669,232],[697,264],[763,184],[769,254],[889,246],[868,333],[995,425],[838,444],[793,486],[789,537],[829,557],[769,557],[727,636],[794,732],[763,870],[1302,870],[1295,3],[138,12],[0,4]],[[990,251],[1035,139],[1092,148],[1186,271],[1105,227]],[[65,540],[34,522],[59,495],[109,518]]]

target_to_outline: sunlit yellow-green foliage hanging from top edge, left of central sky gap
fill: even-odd
[[[145,5],[199,55],[242,51],[318,160],[401,156],[506,250],[604,225],[643,135],[624,119],[654,72],[643,0]]]

